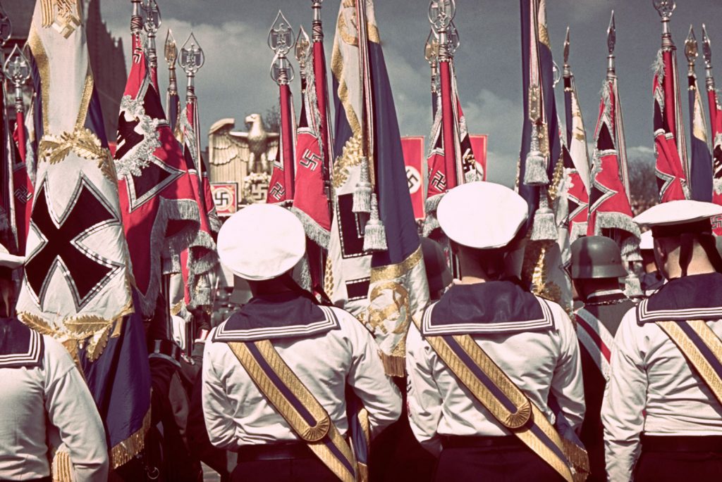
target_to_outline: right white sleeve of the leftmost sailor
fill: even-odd
[[[45,337],[45,411],[66,445],[77,482],[108,480],[108,445],[95,401],[66,349]]]

